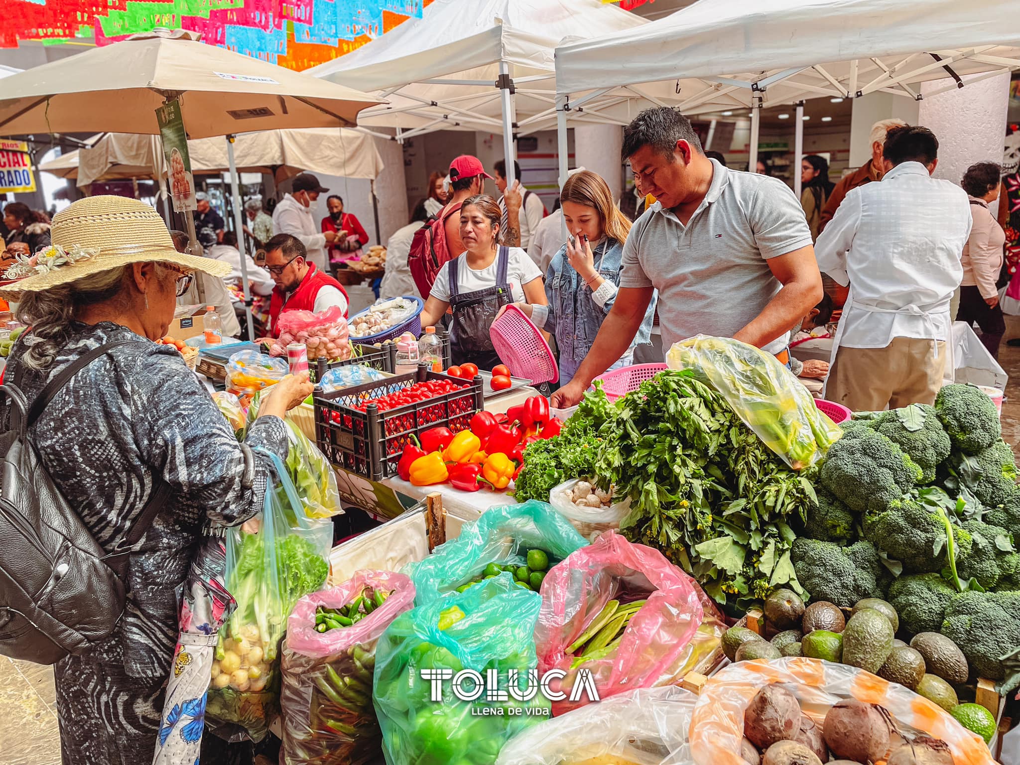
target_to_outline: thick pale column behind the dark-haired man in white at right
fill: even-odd
[[[948,84],[923,83],[921,95]],[[918,123],[938,139],[935,177],[959,184],[974,162],[1003,161],[1009,90],[1010,75],[1004,73],[921,101]]]

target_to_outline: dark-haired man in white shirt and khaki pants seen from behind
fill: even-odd
[[[850,285],[824,398],[855,411],[934,402],[971,227],[967,194],[931,177],[931,131],[895,128],[883,153],[882,180],[848,193],[815,243],[818,267]]]

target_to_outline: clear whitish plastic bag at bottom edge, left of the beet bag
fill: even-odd
[[[590,704],[518,733],[496,765],[680,765],[698,697],[675,685],[639,688]]]

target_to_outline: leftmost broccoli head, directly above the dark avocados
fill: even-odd
[[[794,570],[811,600],[851,608],[864,598],[884,598],[888,572],[874,546],[858,542],[843,548],[831,542],[799,538],[789,553]]]

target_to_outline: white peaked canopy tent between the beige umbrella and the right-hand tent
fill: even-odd
[[[467,6],[436,0],[420,19],[307,73],[356,83],[388,99],[361,112],[358,124],[396,128],[398,138],[451,129],[502,133],[512,183],[514,136],[556,123],[553,51],[560,41],[647,22],[602,0],[473,0]],[[575,117],[607,121],[595,109]]]

